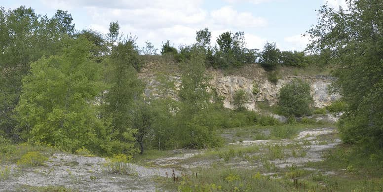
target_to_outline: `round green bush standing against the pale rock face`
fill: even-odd
[[[282,114],[308,115],[311,112],[312,102],[310,85],[301,79],[294,79],[280,89],[278,106]]]

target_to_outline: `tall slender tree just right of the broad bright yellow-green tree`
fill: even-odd
[[[130,114],[134,102],[140,99],[143,92],[143,82],[138,79],[136,70],[132,67],[138,52],[134,49],[131,41],[118,42],[112,49],[108,61],[112,77],[110,77],[110,89],[105,96],[104,117],[110,119],[114,139],[121,142],[131,142],[125,133],[133,133],[131,130]],[[133,146],[126,146],[133,150]]]

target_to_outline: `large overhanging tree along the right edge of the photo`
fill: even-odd
[[[343,141],[383,148],[383,4],[381,0],[349,0],[348,7],[323,5],[308,31],[309,49],[331,50],[336,64],[333,88],[348,105],[339,129]]]

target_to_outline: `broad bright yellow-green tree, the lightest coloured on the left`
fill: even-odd
[[[96,117],[95,97],[102,90],[100,66],[89,60],[85,38],[68,40],[58,56],[31,64],[23,78],[23,94],[16,108],[22,137],[75,152],[97,152],[104,132]]]

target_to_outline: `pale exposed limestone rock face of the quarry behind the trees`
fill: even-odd
[[[323,108],[330,105],[341,96],[339,94],[329,94],[328,87],[334,80],[327,76],[286,76],[279,79],[276,84],[268,81],[266,72],[256,65],[249,65],[242,69],[242,72],[234,75],[225,75],[220,70],[208,70],[208,75],[212,77],[210,85],[212,90],[215,90],[218,96],[224,98],[224,107],[235,109],[232,104],[233,96],[236,91],[242,89],[247,95],[245,107],[248,110],[258,111],[257,102],[268,102],[269,105],[274,105],[278,102],[278,94],[280,88],[289,83],[295,78],[302,78],[311,84],[311,95],[314,100],[314,106]],[[153,75],[148,73],[141,74],[140,77],[147,81],[145,95],[149,97],[164,97],[163,90],[159,90],[160,83],[155,80]],[[166,91],[167,97],[178,100],[177,90],[181,86],[181,77],[174,74],[168,77],[174,83],[173,90]],[[253,91],[253,90],[256,91]]]

